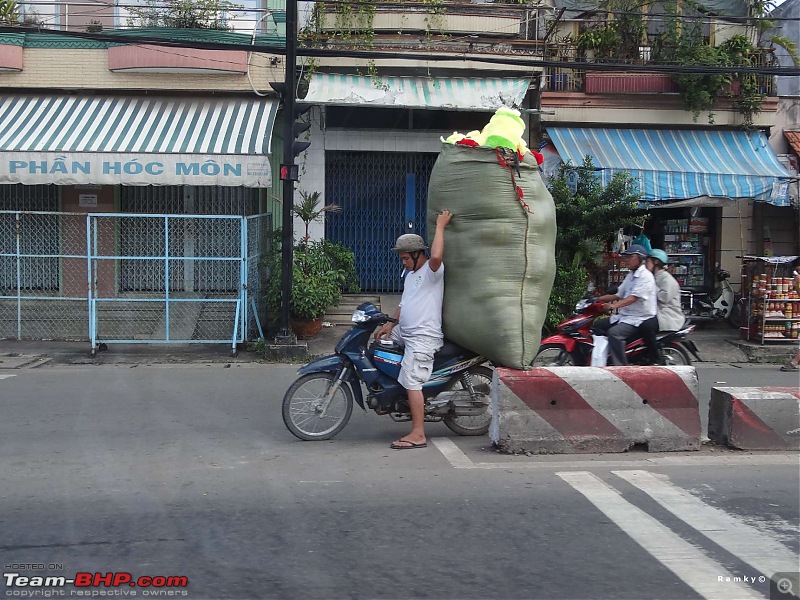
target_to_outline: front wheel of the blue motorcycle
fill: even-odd
[[[336,382],[332,373],[309,373],[295,381],[283,397],[283,422],[301,440],[329,440],[339,433],[353,414],[353,392],[342,383],[325,414],[322,405]]]

